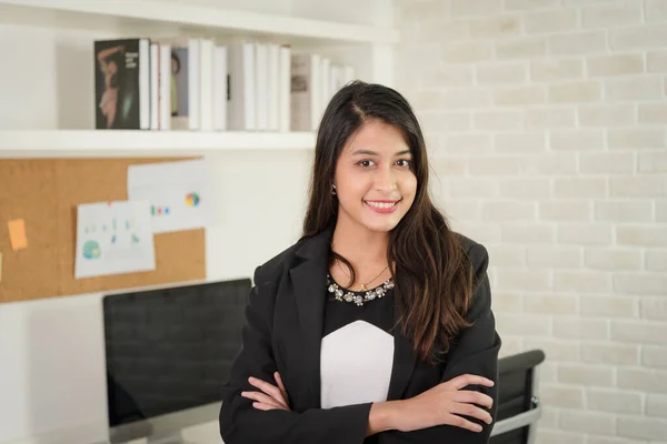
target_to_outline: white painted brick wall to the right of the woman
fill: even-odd
[[[501,355],[547,354],[537,443],[667,443],[667,0],[398,9],[397,87],[488,248]]]

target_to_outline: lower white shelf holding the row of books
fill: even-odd
[[[203,155],[229,150],[313,150],[311,132],[140,130],[0,131],[0,159]]]

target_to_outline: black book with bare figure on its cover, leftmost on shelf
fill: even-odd
[[[150,39],[96,40],[96,129],[150,129]]]

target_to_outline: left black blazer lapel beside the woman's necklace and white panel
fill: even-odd
[[[310,405],[321,404],[320,346],[325,322],[327,260],[331,231],[327,230],[309,239],[297,251],[305,261],[290,269],[295,300],[303,344],[303,369],[307,371]]]

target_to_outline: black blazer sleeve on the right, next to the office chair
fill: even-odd
[[[474,244],[468,255],[475,266],[475,291],[472,303],[468,311],[467,320],[472,325],[466,329],[454,345],[441,382],[447,382],[462,374],[475,374],[488,377],[496,384],[492,387],[468,386],[464,390],[476,390],[489,395],[494,405],[487,410],[494,421],[486,424],[475,418],[468,418],[482,426],[481,432],[470,432],[465,428],[450,425],[424,428],[415,432],[389,431],[384,432],[381,444],[402,443],[466,443],[486,444],[489,442],[491,428],[496,422],[498,411],[498,352],[500,350],[500,336],[496,332],[496,322],[491,312],[491,291],[487,275],[489,256],[480,244]],[[484,407],[482,407],[484,408]]]

